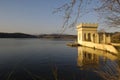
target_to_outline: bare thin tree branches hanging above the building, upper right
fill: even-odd
[[[120,0],[69,0],[54,12],[63,12],[64,28],[76,26],[78,19],[92,11],[104,18],[107,25],[120,28]]]

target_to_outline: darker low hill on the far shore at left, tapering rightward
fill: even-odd
[[[37,36],[24,33],[0,33],[0,38],[37,38]]]

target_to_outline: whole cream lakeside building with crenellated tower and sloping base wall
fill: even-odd
[[[118,53],[113,45],[111,45],[111,36],[109,33],[98,33],[98,24],[81,23],[77,26],[78,44],[91,48],[101,49],[112,53]]]

